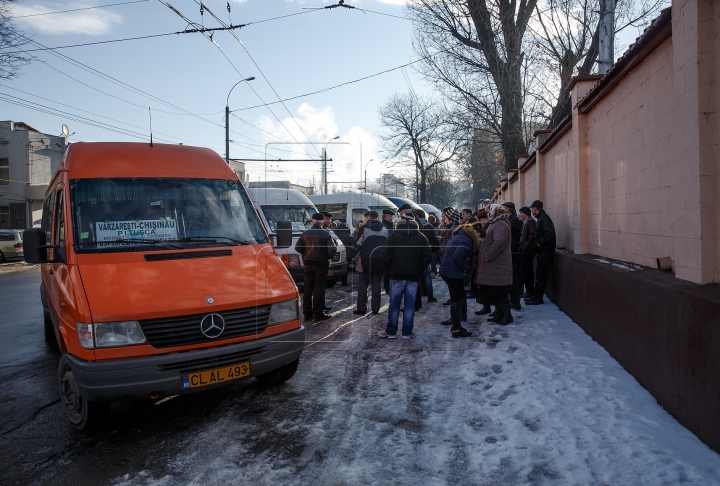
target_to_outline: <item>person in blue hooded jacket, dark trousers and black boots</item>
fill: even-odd
[[[480,236],[473,226],[460,225],[453,230],[440,262],[440,276],[450,291],[450,319],[442,321],[442,324],[452,325],[450,331],[454,338],[472,336],[461,324],[463,303],[467,305],[463,277],[470,271],[469,261],[479,244]]]

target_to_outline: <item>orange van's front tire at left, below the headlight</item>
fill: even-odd
[[[90,402],[80,394],[72,367],[65,355],[60,358],[58,366],[58,387],[60,403],[65,409],[65,415],[70,425],[74,428],[90,430],[107,422],[110,417],[110,403]]]

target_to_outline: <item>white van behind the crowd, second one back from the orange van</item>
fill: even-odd
[[[332,213],[333,220],[347,223],[351,228],[355,228],[357,223],[365,221],[366,211],[377,211],[379,218],[382,218],[383,209],[392,209],[397,212],[397,206],[380,194],[345,192],[310,196],[310,200],[320,211]]]

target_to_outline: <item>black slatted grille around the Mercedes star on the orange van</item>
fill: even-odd
[[[262,313],[254,314],[258,311]],[[204,312],[188,316],[147,319],[140,321],[140,327],[148,342],[156,348],[222,341],[264,332],[270,317],[270,306],[216,312],[215,314],[220,314],[225,319],[225,331],[215,339],[206,337],[200,331],[200,321],[208,314]]]

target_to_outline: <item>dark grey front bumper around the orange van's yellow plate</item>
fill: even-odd
[[[250,377],[268,373],[300,357],[305,347],[305,328],[276,336],[245,341],[220,348],[162,356],[89,362],[68,355],[82,395],[90,401],[113,401],[180,395],[222,386],[183,389],[181,376],[241,362],[250,362]],[[232,380],[228,383],[242,381]]]

